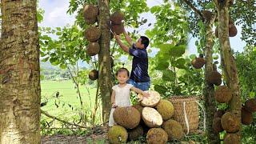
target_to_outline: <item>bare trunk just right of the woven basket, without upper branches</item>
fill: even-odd
[[[213,46],[214,46],[214,34],[212,27],[216,17],[212,17],[208,22],[206,21],[206,48],[204,49],[206,65],[205,65],[205,79],[209,77],[213,71]],[[216,111],[215,98],[214,98],[214,85],[205,81],[204,87],[205,107],[206,107],[206,130],[208,143],[220,143],[219,134],[214,134],[213,120],[214,113]]]

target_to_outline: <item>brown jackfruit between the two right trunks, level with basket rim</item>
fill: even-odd
[[[232,91],[228,86],[218,86],[214,96],[217,102],[227,103],[230,102],[230,99],[232,98]]]

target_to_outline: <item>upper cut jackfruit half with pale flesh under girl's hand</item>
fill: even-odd
[[[149,90],[146,91],[150,94],[150,97],[142,97],[142,94],[138,94],[138,98],[142,99],[141,105],[145,107],[154,107],[158,105],[158,102],[160,102],[160,94],[157,91]]]

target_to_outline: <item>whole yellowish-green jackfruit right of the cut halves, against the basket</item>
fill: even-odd
[[[161,99],[156,106],[156,109],[158,110],[158,113],[161,114],[162,120],[164,121],[170,119],[174,114],[173,104],[166,99]]]

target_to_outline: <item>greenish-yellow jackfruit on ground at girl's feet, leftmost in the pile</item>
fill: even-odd
[[[128,133],[122,126],[112,126],[110,127],[107,136],[110,143],[126,143]]]

